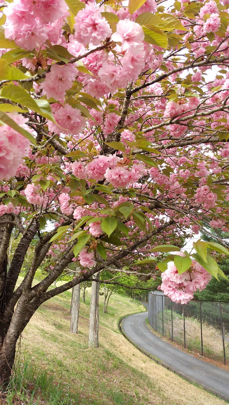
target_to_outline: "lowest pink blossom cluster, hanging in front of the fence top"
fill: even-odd
[[[171,300],[178,304],[187,304],[197,290],[202,291],[211,280],[208,273],[199,263],[193,264],[191,271],[178,274],[174,262],[168,263],[168,268],[161,274],[161,290]]]

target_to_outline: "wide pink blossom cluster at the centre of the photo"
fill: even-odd
[[[134,163],[130,170],[128,166],[120,166],[121,158],[114,155],[100,155],[89,162],[86,166],[82,162],[72,163],[72,173],[78,179],[95,179],[96,181],[108,180],[114,187],[126,187],[130,183],[138,181],[142,177],[145,166],[142,163]],[[119,164],[119,165],[118,165]]]

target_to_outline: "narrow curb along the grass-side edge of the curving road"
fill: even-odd
[[[147,311],[148,312],[148,311]],[[138,312],[137,312],[138,313]],[[131,315],[136,315],[137,313],[132,313]],[[139,312],[140,313],[140,312]],[[216,392],[215,390],[212,390],[204,385],[199,384],[198,381],[196,381],[195,379],[192,379],[190,377],[188,377],[187,375],[184,375],[183,373],[180,373],[180,371],[177,371],[176,369],[174,369],[173,367],[169,366],[168,364],[164,363],[162,360],[160,360],[157,357],[154,357],[153,354],[147,352],[146,350],[142,349],[142,347],[138,346],[134,341],[132,341],[129,336],[127,336],[122,328],[122,321],[123,319],[127,318],[128,316],[131,315],[125,315],[122,318],[119,319],[119,331],[121,332],[121,334],[125,337],[125,339],[127,339],[129,341],[129,343],[131,343],[134,347],[136,347],[142,354],[144,354],[145,356],[149,357],[151,360],[155,361],[157,364],[159,364],[160,366],[164,367],[165,369],[171,371],[172,373],[178,375],[179,377],[185,379],[186,381],[190,382],[191,384],[197,384],[198,388],[202,388],[205,391],[207,391],[210,394],[213,394],[215,396],[217,396],[220,399],[223,399],[223,401],[229,402],[229,398],[227,398],[224,395],[219,394],[218,392]],[[149,329],[150,330],[150,329]],[[153,332],[151,332],[153,333]]]

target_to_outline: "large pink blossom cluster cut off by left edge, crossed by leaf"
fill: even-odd
[[[19,126],[30,133],[27,119],[17,113],[8,114]],[[0,126],[0,180],[10,179],[28,153],[30,141],[8,125]]]

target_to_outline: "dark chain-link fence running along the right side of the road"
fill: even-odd
[[[161,336],[200,355],[229,363],[229,302],[173,303],[161,291],[148,296],[148,321]]]

